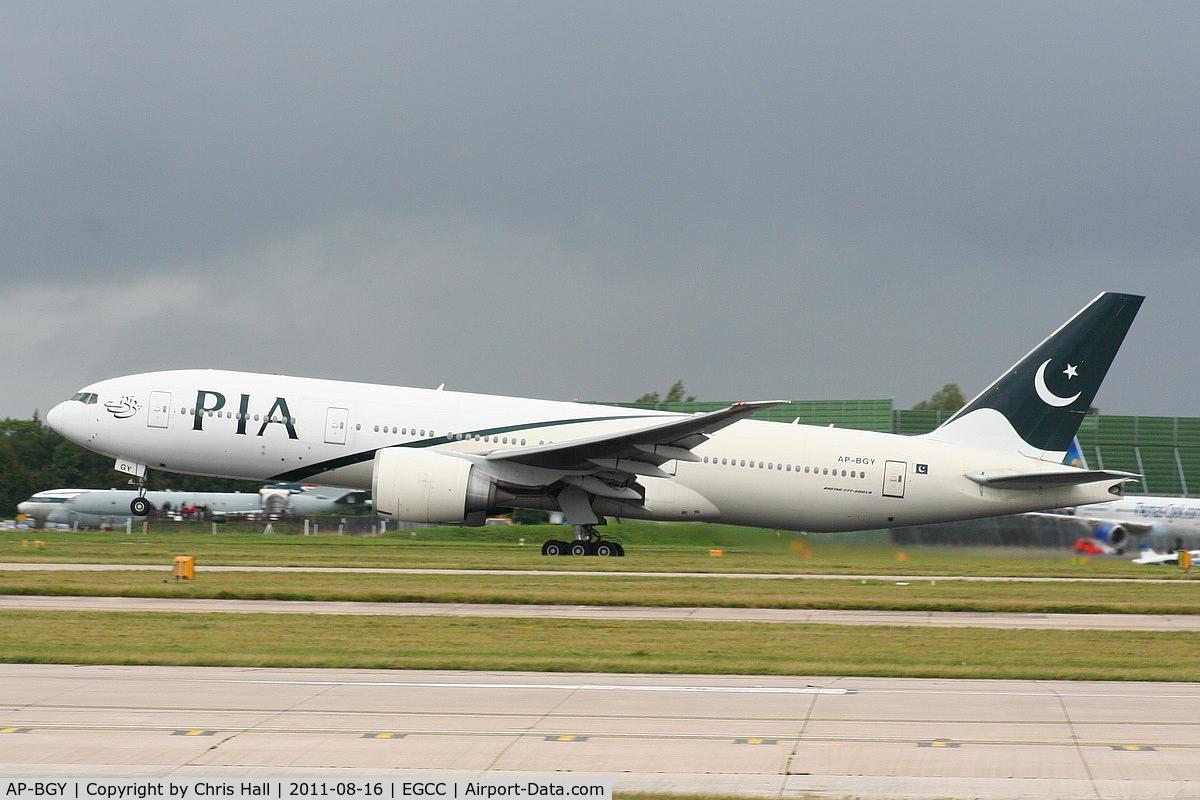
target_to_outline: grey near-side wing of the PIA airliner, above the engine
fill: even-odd
[[[530,447],[496,450],[486,459],[497,465],[521,464],[554,471],[596,473],[601,470],[631,476],[670,477],[659,467],[668,461],[700,461],[691,449],[755,411],[787,401],[734,403],[704,414],[671,416],[653,425],[598,437],[556,441]]]

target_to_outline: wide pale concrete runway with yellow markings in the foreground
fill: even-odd
[[[0,777],[774,798],[1200,795],[1193,684],[0,664]]]

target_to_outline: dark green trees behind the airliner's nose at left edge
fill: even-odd
[[[150,471],[151,489],[257,492],[259,483]],[[108,456],[64,439],[35,415],[0,420],[0,518],[17,516],[17,504],[46,489],[131,488]]]

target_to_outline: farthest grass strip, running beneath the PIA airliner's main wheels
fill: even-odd
[[[332,528],[332,524],[330,524]],[[1028,577],[1180,578],[1177,569],[1152,569],[1127,559],[1079,563],[1069,552],[988,553],[893,546],[886,533],[822,534],[736,528],[732,525],[623,523],[604,528],[622,542],[623,559],[544,558],[547,539],[570,539],[553,525],[438,528],[373,536],[311,535],[276,523],[216,527],[152,523],[150,534],[2,531],[0,561],[162,564],[193,555],[199,565],[499,569],[550,571],[773,572],[823,575],[906,575]],[[524,539],[526,543],[520,545]],[[44,542],[35,547],[32,542]],[[25,542],[23,546],[22,542]],[[721,557],[712,553],[719,551]]]

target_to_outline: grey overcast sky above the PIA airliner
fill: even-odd
[[[151,369],[1200,416],[1186,2],[0,2],[0,417]]]

